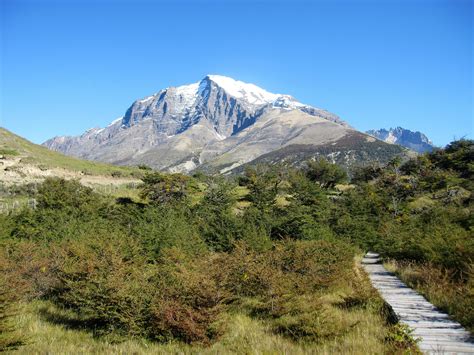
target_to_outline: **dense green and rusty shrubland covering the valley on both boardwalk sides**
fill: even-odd
[[[0,294],[0,347],[19,344],[18,307],[38,299],[115,340],[208,346],[236,313],[294,341],[339,339],[359,311],[387,318],[354,262],[368,249],[416,266],[428,296],[449,275],[472,327],[473,146],[364,166],[350,184],[324,160],[236,179],[144,168],[139,200],[48,178],[36,209],[0,215],[0,282],[15,290]],[[385,350],[407,346],[381,327]]]

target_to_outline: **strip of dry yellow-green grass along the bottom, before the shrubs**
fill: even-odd
[[[351,332],[337,339],[315,343],[296,343],[273,334],[268,324],[242,313],[228,315],[226,334],[210,347],[183,343],[159,344],[144,339],[117,342],[113,338],[94,338],[90,331],[62,323],[64,311],[51,303],[36,301],[27,306],[20,320],[27,344],[12,354],[383,354],[390,348],[383,339],[387,333],[383,319],[367,310],[345,312],[356,323]],[[67,313],[67,312],[66,312]],[[71,314],[68,314],[70,317]]]

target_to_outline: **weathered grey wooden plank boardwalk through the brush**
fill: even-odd
[[[367,253],[362,264],[372,285],[392,307],[400,322],[420,338],[420,350],[427,354],[474,354],[474,339],[459,323],[451,320],[423,296],[388,272],[379,255]]]

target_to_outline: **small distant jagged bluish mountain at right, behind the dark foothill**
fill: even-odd
[[[370,130],[366,132],[386,143],[398,144],[418,153],[431,152],[435,147],[426,135],[402,127]]]

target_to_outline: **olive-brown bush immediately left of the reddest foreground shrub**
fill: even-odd
[[[130,238],[100,236],[63,242],[55,301],[87,319],[99,333],[144,335],[153,291],[150,268]]]

